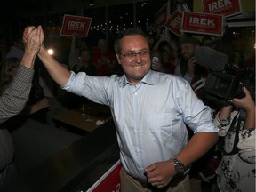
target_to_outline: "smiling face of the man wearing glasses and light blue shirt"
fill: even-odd
[[[121,52],[116,53],[118,63],[124,69],[128,81],[138,84],[151,66],[148,41],[141,35],[124,36],[120,40],[120,48]],[[141,54],[136,54],[139,52]],[[127,57],[127,53],[135,53],[135,55]]]

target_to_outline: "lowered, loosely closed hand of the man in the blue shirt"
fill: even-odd
[[[157,188],[164,188],[176,174],[174,164],[170,161],[156,162],[150,164],[146,169],[148,182]]]

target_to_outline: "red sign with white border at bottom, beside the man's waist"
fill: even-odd
[[[119,176],[121,168],[122,164],[118,160],[87,192],[121,192]]]

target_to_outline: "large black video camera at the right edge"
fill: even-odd
[[[240,69],[227,66],[223,72],[211,72],[204,85],[204,91],[220,100],[243,98],[243,87],[246,87],[255,100],[254,69]]]

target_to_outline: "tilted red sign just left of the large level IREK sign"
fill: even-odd
[[[174,11],[172,15],[166,20],[164,26],[170,29],[174,34],[180,36],[180,24],[182,20],[182,12]]]

